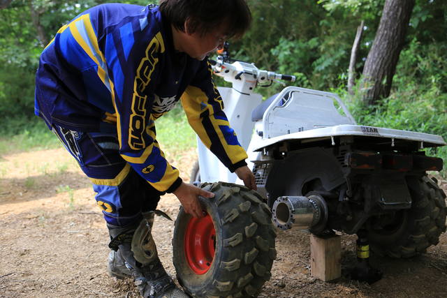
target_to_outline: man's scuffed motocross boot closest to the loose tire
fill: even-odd
[[[112,239],[109,247],[121,255],[142,297],[187,298],[189,296],[177,288],[161,264],[151,234],[153,222],[154,212],[149,212],[138,227],[108,225]]]

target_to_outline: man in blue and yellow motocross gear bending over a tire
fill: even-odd
[[[35,112],[93,183],[110,233],[109,273],[131,274],[143,297],[186,297],[152,239],[160,195],[174,193],[195,217],[198,195],[214,195],[179,178],[156,141],[157,118],[181,98],[204,144],[256,188],[207,63],[250,21],[244,0],[105,4],[61,27],[41,55]]]

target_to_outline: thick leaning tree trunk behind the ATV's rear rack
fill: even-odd
[[[374,43],[363,68],[362,100],[374,105],[390,95],[415,0],[386,0]]]

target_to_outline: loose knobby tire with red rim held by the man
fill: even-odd
[[[207,215],[180,210],[175,221],[173,262],[177,279],[192,297],[256,297],[276,258],[271,212],[261,195],[217,182],[200,187]]]

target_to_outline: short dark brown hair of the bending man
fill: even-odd
[[[226,26],[228,38],[242,37],[251,23],[251,13],[244,0],[160,0],[160,11],[173,26],[201,35]]]

